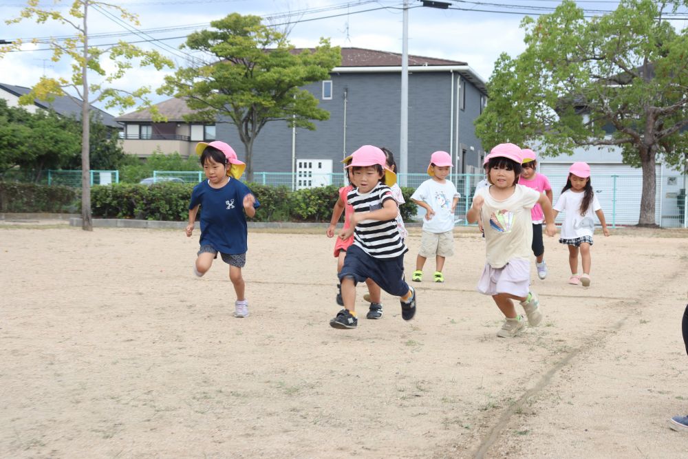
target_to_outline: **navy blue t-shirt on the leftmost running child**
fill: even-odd
[[[213,188],[204,180],[193,187],[189,210],[201,204],[202,246],[212,246],[219,253],[246,253],[248,226],[244,214],[244,197],[252,194],[248,186],[230,178],[222,188]],[[253,207],[260,206],[256,199]]]

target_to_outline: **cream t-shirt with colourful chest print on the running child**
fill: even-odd
[[[513,195],[498,201],[490,194],[491,187],[481,188],[485,203],[482,206],[482,221],[485,229],[487,262],[493,268],[504,268],[512,259],[530,262],[533,251],[533,219],[530,209],[540,198],[540,193],[517,184]]]

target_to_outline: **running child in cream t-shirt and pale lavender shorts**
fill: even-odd
[[[545,213],[546,233],[556,232],[552,205],[544,194],[517,184],[521,174],[521,149],[513,143],[499,144],[488,155],[488,188],[473,198],[466,213],[469,223],[482,214],[487,262],[477,284],[477,291],[491,295],[505,320],[497,337],[515,337],[524,328],[513,299],[523,306],[528,323],[535,326],[542,312],[535,292],[529,291],[530,243],[533,224],[530,209],[539,203]]]

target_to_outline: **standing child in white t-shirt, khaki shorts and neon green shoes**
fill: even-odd
[[[454,184],[447,180],[451,172],[449,153],[432,153],[427,172],[430,178],[422,182],[411,195],[411,201],[425,209],[416,270],[411,280],[422,281],[425,261],[435,257],[433,279],[444,282],[444,260],[454,254],[454,209],[461,195]]]

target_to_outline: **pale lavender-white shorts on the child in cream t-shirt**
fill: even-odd
[[[508,293],[515,297],[527,297],[530,286],[530,260],[515,258],[502,268],[493,268],[486,263],[477,291],[483,295]]]

